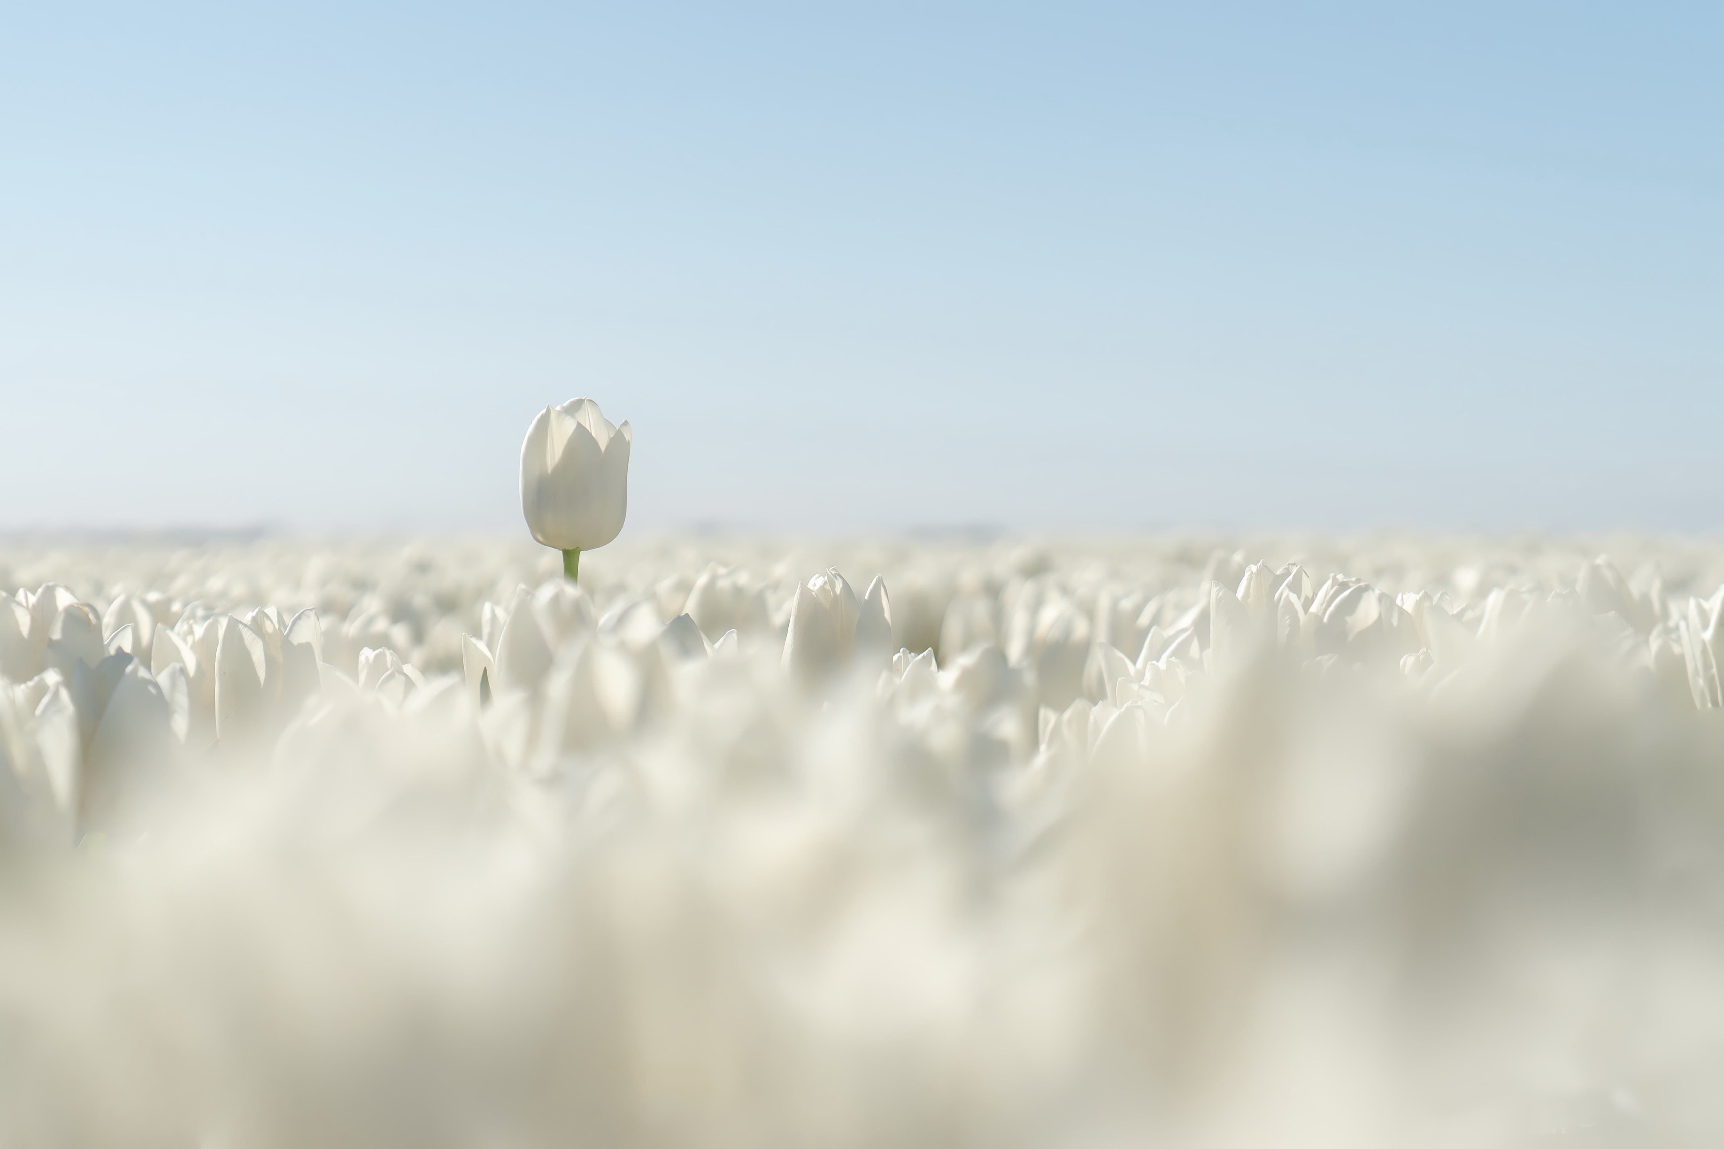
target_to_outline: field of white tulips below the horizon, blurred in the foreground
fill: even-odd
[[[1717,1144],[1721,584],[3,544],[0,1144]]]

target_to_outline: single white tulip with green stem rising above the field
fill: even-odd
[[[521,513],[533,537],[562,551],[576,577],[581,551],[622,531],[629,505],[629,424],[607,420],[593,400],[547,407],[521,444]]]

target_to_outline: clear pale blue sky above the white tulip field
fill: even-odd
[[[0,529],[1724,527],[1724,9],[3,5]]]

